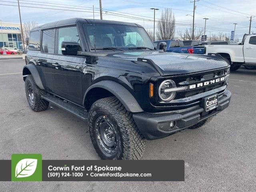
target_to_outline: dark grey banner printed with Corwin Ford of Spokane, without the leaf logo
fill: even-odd
[[[43,181],[184,181],[183,160],[42,160]],[[11,181],[11,160],[0,160]]]

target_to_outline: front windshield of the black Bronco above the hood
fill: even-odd
[[[136,48],[155,48],[144,28],[114,24],[95,24],[95,26],[84,24],[84,30],[90,50],[94,50],[94,34],[96,49],[136,50]]]

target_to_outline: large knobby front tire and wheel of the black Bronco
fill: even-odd
[[[138,160],[146,140],[132,113],[116,97],[97,100],[90,108],[88,127],[92,144],[104,160]]]

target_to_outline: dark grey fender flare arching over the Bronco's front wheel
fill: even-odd
[[[110,80],[103,80],[91,85],[84,94],[83,103],[85,102],[87,93],[93,88],[103,88],[108,90],[116,96],[120,102],[122,102],[126,110],[130,112],[143,112],[143,109],[140,107],[137,100],[126,88],[124,88],[124,86]]]

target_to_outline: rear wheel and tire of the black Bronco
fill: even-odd
[[[32,75],[26,77],[25,92],[28,104],[33,111],[39,112],[48,108],[49,102],[41,98],[46,92],[38,88]]]

